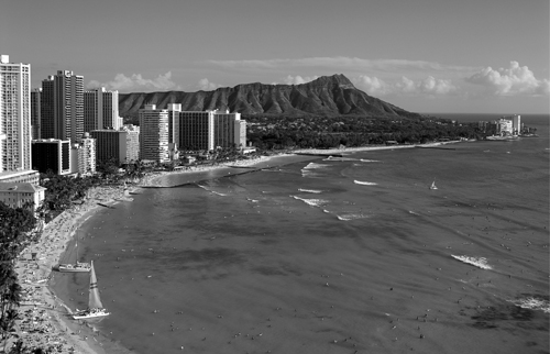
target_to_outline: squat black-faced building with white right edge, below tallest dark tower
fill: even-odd
[[[33,168],[42,174],[68,175],[70,166],[70,141],[44,139],[32,141]]]

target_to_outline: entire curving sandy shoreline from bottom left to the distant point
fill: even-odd
[[[422,144],[421,146],[440,146],[449,143]],[[95,338],[96,332],[85,321],[74,321],[69,318],[72,310],[50,288],[50,280],[55,277],[52,266],[59,263],[69,244],[75,240],[76,230],[89,218],[98,212],[100,207],[110,208],[121,201],[132,201],[132,193],[140,188],[168,187],[163,184],[166,176],[186,174],[189,176],[220,170],[223,168],[239,168],[237,175],[250,170],[271,168],[270,162],[274,158],[286,158],[296,155],[310,155],[311,157],[328,156],[331,154],[353,154],[365,151],[411,148],[418,145],[388,145],[365,146],[333,150],[296,150],[293,152],[260,156],[256,158],[228,162],[218,165],[196,166],[176,172],[152,173],[132,187],[96,187],[89,191],[89,197],[82,204],[76,204],[57,215],[44,226],[44,231],[36,244],[23,250],[16,261],[15,272],[22,286],[22,302],[19,307],[20,318],[15,323],[15,332],[7,340],[10,349],[18,339],[31,349],[52,347],[63,353],[106,353],[102,343]],[[222,177],[222,176],[216,176]],[[36,253],[36,259],[31,259],[31,253]],[[29,323],[33,323],[29,328]],[[38,324],[34,324],[38,323]]]

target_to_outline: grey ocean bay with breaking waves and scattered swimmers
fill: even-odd
[[[172,176],[184,185],[102,209],[79,241],[111,312],[94,340],[107,353],[547,353],[549,117],[521,118],[539,137]],[[86,275],[56,274],[53,289],[87,306]]]

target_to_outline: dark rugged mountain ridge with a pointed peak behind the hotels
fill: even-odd
[[[299,85],[261,82],[196,92],[158,91],[119,93],[121,117],[136,117],[146,103],[165,109],[180,103],[184,111],[229,110],[243,115],[363,115],[420,117],[359,90],[342,74],[321,76]]]

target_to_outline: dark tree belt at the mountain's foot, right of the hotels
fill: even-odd
[[[248,140],[262,150],[359,147],[385,144],[424,144],[442,139],[483,139],[476,123],[420,118],[256,117],[246,115]]]

